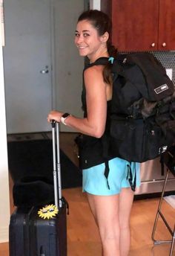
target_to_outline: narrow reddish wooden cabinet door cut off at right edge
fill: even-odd
[[[175,1],[159,0],[159,42],[160,51],[175,49]]]

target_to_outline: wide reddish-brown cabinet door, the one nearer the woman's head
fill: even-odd
[[[111,17],[112,41],[119,51],[157,49],[159,0],[112,0]]]

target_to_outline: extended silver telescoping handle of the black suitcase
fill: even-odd
[[[53,141],[53,185],[54,200],[56,207],[62,208],[62,179],[59,154],[59,123],[52,120],[52,141]]]

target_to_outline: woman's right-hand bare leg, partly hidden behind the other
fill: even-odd
[[[128,256],[130,250],[130,215],[132,205],[133,191],[131,188],[122,188],[122,191],[119,194],[119,229],[121,256]]]

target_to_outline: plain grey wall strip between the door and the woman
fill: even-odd
[[[82,69],[84,58],[74,45],[74,34],[79,14],[84,10],[83,0],[55,1],[55,106],[62,112],[82,116]],[[62,131],[71,131],[62,125]]]

